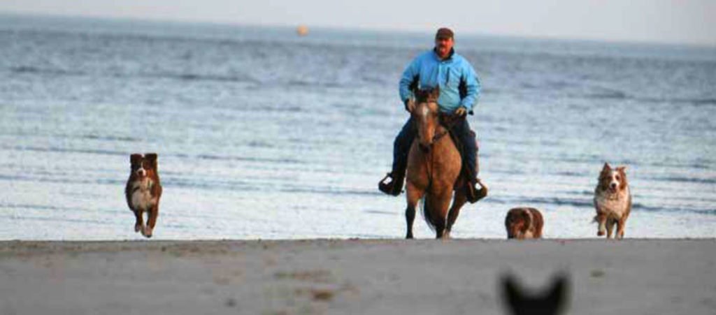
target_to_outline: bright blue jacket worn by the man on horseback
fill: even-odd
[[[431,89],[438,85],[441,112],[453,112],[462,106],[472,114],[480,95],[480,80],[470,62],[454,50],[445,60],[437,57],[434,50],[415,57],[400,78],[400,100],[405,104],[414,87]]]

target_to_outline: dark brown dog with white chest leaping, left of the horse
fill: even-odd
[[[130,155],[132,171],[127,180],[125,195],[127,205],[137,218],[135,232],[142,232],[147,238],[152,237],[154,225],[159,215],[159,198],[162,196],[162,185],[157,171],[157,154],[147,153],[142,157],[135,153]],[[147,213],[147,226],[144,225],[143,213]]]

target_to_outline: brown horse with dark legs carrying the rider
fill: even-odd
[[[448,129],[440,124],[438,96],[439,88],[415,91],[416,104],[411,115],[417,127],[417,137],[407,158],[406,238],[413,237],[415,207],[421,198],[425,197],[425,221],[435,229],[436,238],[450,238],[450,230],[458,219],[460,208],[467,201],[465,185],[468,180],[460,172],[463,161]],[[450,201],[453,201],[452,207]]]

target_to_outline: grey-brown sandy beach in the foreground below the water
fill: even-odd
[[[0,243],[0,314],[505,314],[499,279],[571,278],[566,314],[715,314],[716,240]]]

